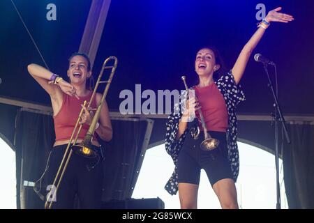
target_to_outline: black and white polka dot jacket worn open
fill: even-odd
[[[223,94],[225,104],[228,112],[228,129],[227,129],[227,146],[228,146],[228,160],[230,162],[230,168],[232,170],[233,179],[237,181],[239,175],[239,151],[237,146],[237,116],[236,107],[239,102],[245,100],[244,92],[241,90],[241,85],[237,85],[234,81],[232,72],[226,72],[225,75],[220,77],[215,84],[217,85],[220,93]],[[179,109],[179,112],[178,112]],[[187,130],[181,137],[176,140],[177,131],[179,129],[179,120],[182,116],[179,105],[174,106],[174,112],[168,117],[166,128],[165,149],[167,153],[172,157],[174,165],[176,166],[179,152],[184,144],[186,134],[190,132]],[[196,128],[196,126],[193,126]],[[165,190],[170,194],[177,194],[178,191],[178,174],[177,166],[174,168],[171,178],[165,185]]]

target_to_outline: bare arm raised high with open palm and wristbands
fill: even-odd
[[[275,8],[271,10],[267,17],[264,20],[270,24],[270,22],[291,22],[294,18],[291,15],[287,15],[284,13],[278,13],[281,10],[281,7]],[[250,58],[253,49],[255,49],[256,45],[260,42],[260,39],[264,35],[265,30],[267,29],[267,24],[262,24],[257,31],[253,34],[248,43],[241,50],[236,63],[232,68],[232,74],[234,76],[234,80],[236,84],[239,84],[242,75],[244,74],[244,70],[246,69],[246,64],[248,63],[248,59]]]

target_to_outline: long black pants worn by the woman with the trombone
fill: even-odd
[[[61,145],[52,148],[47,170],[48,185],[52,185],[57,175],[66,146]],[[102,187],[103,164],[101,157],[91,159],[73,153],[57,190],[56,201],[53,202],[52,208],[74,208],[75,194],[80,201],[79,208],[100,208]]]

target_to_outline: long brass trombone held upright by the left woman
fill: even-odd
[[[113,61],[113,66],[107,66],[107,63],[109,61]],[[89,130],[87,131],[87,134],[85,134],[85,137],[82,140],[82,142],[80,144],[76,145],[77,137],[79,136],[80,131],[81,131],[82,126],[83,126],[82,124],[80,124],[80,119],[81,119],[82,114],[84,112],[84,108],[81,109],[80,114],[79,114],[79,116],[77,118],[74,130],[73,130],[73,132],[71,134],[70,141],[68,143],[68,146],[66,147],[66,151],[64,152],[61,164],[60,164],[59,169],[57,171],[57,175],[54,178],[53,185],[56,185],[56,183],[57,183],[57,185],[54,187],[54,191],[51,190],[51,192],[52,192],[52,199],[49,199],[49,200],[46,199],[46,201],[45,201],[45,209],[51,209],[52,208],[52,203],[54,201],[56,201],[57,190],[59,189],[61,180],[63,178],[63,175],[64,175],[65,171],[66,171],[66,167],[68,167],[68,162],[70,161],[70,157],[73,154],[73,151],[75,153],[79,154],[79,155],[82,155],[82,156],[88,157],[88,158],[94,158],[94,157],[98,156],[96,151],[94,151],[91,148],[91,139],[92,139],[92,137],[94,135],[94,132],[95,132],[95,129],[96,129],[96,124],[97,124],[99,116],[100,116],[100,110],[101,110],[101,108],[103,106],[103,102],[104,102],[104,100],[106,98],[107,92],[108,92],[110,84],[112,82],[112,77],[114,76],[114,72],[117,69],[117,64],[118,64],[118,59],[115,56],[110,56],[107,59],[105,59],[105,61],[103,62],[103,67],[102,67],[102,69],[100,71],[100,74],[98,75],[98,79],[97,79],[97,82],[96,82],[96,85],[95,85],[95,89],[94,89],[94,91],[93,91],[93,93],[91,95],[91,100],[89,100],[89,102],[87,102],[85,100],[84,101],[84,107],[87,106],[89,108],[89,105],[91,105],[91,102],[94,100],[94,97],[96,95],[96,91],[98,89],[98,85],[106,83],[105,90],[103,92],[103,97],[101,98],[100,103],[99,103],[99,105],[98,105],[98,107],[96,109],[95,115],[94,115],[94,117],[93,117],[93,119],[91,121],[91,125],[89,126]],[[101,77],[103,76],[104,70],[109,70],[109,69],[111,69],[109,79],[107,81],[101,81]],[[78,130],[77,130],[77,128],[78,128]],[[77,133],[76,133],[76,135],[74,137],[74,134],[75,134],[76,130],[77,130]],[[74,139],[73,146],[70,146],[72,144],[72,140],[73,139]],[[70,149],[70,147],[71,147],[71,149]]]

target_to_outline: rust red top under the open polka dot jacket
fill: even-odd
[[[207,130],[226,132],[228,128],[228,113],[223,95],[213,82],[209,86],[202,88],[195,86],[195,94],[202,106],[202,114],[207,126]],[[200,120],[200,114],[195,112]],[[200,129],[202,130],[202,123]]]

